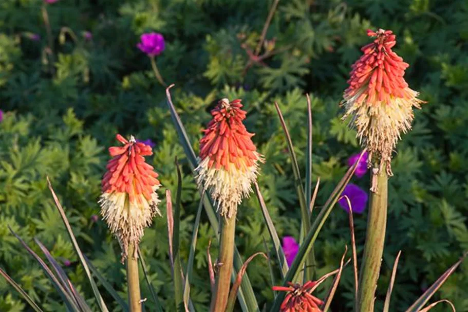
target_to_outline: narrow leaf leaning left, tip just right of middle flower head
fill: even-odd
[[[289,157],[291,158],[292,172],[294,174],[294,185],[296,187],[297,197],[299,199],[299,206],[301,207],[302,233],[305,234],[305,233],[308,233],[310,230],[310,212],[308,208],[309,206],[307,205],[306,195],[304,194],[304,188],[302,186],[302,180],[301,180],[301,173],[299,172],[299,165],[297,164],[297,158],[296,158],[296,154],[294,153],[294,146],[292,145],[291,136],[289,135],[288,127],[286,126],[286,122],[283,118],[283,114],[281,113],[278,103],[276,102],[275,102],[275,108],[276,108],[276,112],[278,113],[279,122],[281,123],[281,126],[283,127],[283,131],[286,136],[286,142],[288,143]],[[312,148],[312,146],[310,146],[310,148]],[[303,237],[304,235],[301,235],[301,242],[299,242],[301,245],[303,244],[303,241],[302,241]],[[307,263],[305,263],[306,265],[305,279],[311,280],[313,278],[313,274],[315,271],[315,257],[314,257],[313,250],[309,250],[306,256],[307,256]]]

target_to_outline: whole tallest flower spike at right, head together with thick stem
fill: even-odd
[[[364,55],[352,65],[349,87],[343,95],[346,109],[343,119],[351,116],[352,127],[369,152],[371,194],[366,242],[359,278],[358,311],[373,311],[379,278],[387,220],[388,177],[391,153],[401,133],[411,128],[413,107],[423,103],[418,92],[408,87],[403,76],[409,66],[391,50],[396,35],[391,30],[368,30],[375,38],[361,50]]]

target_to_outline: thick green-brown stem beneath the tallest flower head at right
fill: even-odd
[[[370,193],[366,242],[359,278],[358,311],[373,311],[387,224],[387,174],[385,168],[373,177],[377,192]]]

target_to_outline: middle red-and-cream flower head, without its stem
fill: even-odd
[[[237,212],[242,198],[252,192],[252,182],[257,178],[258,162],[263,157],[242,120],[246,112],[240,100],[222,99],[211,111],[213,119],[200,140],[197,183],[209,190],[217,209],[230,218]]]

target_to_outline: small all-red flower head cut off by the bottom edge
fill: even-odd
[[[304,285],[288,282],[288,285],[273,286],[273,290],[288,292],[280,306],[281,312],[322,312],[320,306],[324,302],[312,296],[312,291],[318,286],[317,282],[308,281]]]

